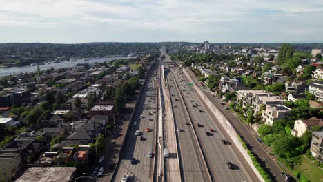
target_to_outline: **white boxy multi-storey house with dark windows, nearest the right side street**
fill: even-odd
[[[267,125],[273,125],[275,119],[286,119],[290,108],[285,105],[266,105],[266,110],[262,112],[262,121]]]

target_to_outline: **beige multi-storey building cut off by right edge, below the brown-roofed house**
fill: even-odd
[[[312,132],[311,153],[321,163],[323,163],[323,131]]]

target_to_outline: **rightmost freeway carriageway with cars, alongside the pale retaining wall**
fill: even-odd
[[[179,74],[177,70],[175,71],[175,69],[173,69],[173,72],[175,72],[174,76],[177,77],[176,81],[184,96],[186,106],[188,107],[194,125],[200,123],[204,126],[197,127],[197,136],[202,144],[206,160],[213,176],[216,176],[216,179],[219,179],[219,181],[257,181],[254,174],[250,175],[248,173],[251,172],[251,170],[249,169],[249,166],[242,161],[244,159],[239,159],[237,154],[233,152],[233,146],[222,144],[221,140],[226,139],[226,137],[222,134],[219,125],[216,124],[211,114],[206,110],[202,101],[199,100],[197,94],[188,87],[188,82],[182,79],[182,75]],[[193,107],[193,105],[195,105],[195,107]],[[210,129],[213,129],[216,132],[213,132],[212,136],[206,136],[206,132],[210,132]],[[233,170],[227,168],[227,162],[233,163]],[[253,176],[253,178],[251,178],[251,176]]]

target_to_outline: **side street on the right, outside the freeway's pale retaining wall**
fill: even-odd
[[[189,69],[186,69],[188,74],[190,74],[190,77],[193,78],[194,82],[196,84],[199,84],[199,81],[197,81],[197,78],[191,72]],[[202,89],[202,88],[201,88]],[[202,89],[203,92],[206,94],[206,97],[208,99],[211,99],[213,103],[221,110],[226,116],[228,117],[231,125],[235,128],[235,130],[239,133],[240,136],[246,141],[247,145],[250,146],[250,150],[258,157],[258,161],[260,161],[261,165],[265,167],[266,172],[271,176],[271,179],[274,181],[284,181],[283,177],[280,175],[282,170],[278,167],[276,164],[276,161],[273,161],[271,159],[271,156],[262,148],[260,143],[258,143],[257,139],[253,135],[253,129],[249,125],[244,125],[233,113],[229,110],[224,110],[222,105],[220,104],[221,101],[215,97],[212,96],[211,91],[208,89]]]

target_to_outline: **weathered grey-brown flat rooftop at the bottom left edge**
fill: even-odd
[[[68,182],[77,169],[74,167],[29,168],[16,182]]]

